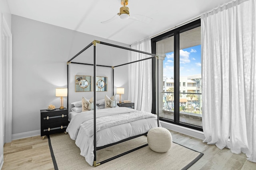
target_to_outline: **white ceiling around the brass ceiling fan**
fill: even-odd
[[[222,6],[230,0],[129,0],[130,14],[152,18],[151,23],[112,18],[120,0],[7,0],[12,14],[132,44]]]

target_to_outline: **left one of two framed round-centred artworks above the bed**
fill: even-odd
[[[75,76],[76,92],[92,91],[92,76]]]

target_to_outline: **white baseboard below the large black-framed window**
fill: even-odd
[[[188,136],[196,137],[198,139],[202,139],[202,140],[205,139],[204,133],[202,131],[197,131],[197,130],[194,130],[194,129],[190,129],[188,127],[175,125],[173,123],[168,123],[168,122],[165,122],[165,121],[160,121],[160,123],[161,123],[162,127],[165,127],[166,129],[170,129],[172,131],[183,133],[183,134],[188,135]]]

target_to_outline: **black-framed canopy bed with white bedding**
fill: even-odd
[[[124,64],[119,64],[116,66],[100,65],[96,63],[96,57],[97,57],[96,44],[97,43],[128,50],[128,51],[134,51],[136,53],[143,53],[145,55],[149,55],[150,57],[140,59],[137,61],[124,63]],[[82,52],[86,51],[86,49],[88,49],[92,45],[93,45],[93,51],[94,51],[93,64],[72,62],[73,59],[75,59]],[[158,113],[152,114],[144,111],[137,111],[135,109],[131,109],[127,107],[96,109],[97,108],[96,92],[98,92],[98,90],[94,90],[94,89],[97,89],[97,86],[98,88],[102,86],[102,82],[99,83],[99,80],[97,79],[97,75],[96,75],[97,66],[112,68],[112,80],[113,80],[112,91],[114,96],[114,68],[119,66],[124,66],[126,64],[132,64],[132,63],[148,60],[148,59],[156,60],[156,66],[153,66],[152,64],[152,71],[156,72],[155,75],[158,75],[158,56],[157,55],[94,40],[92,43],[90,43],[88,46],[82,49],[79,53],[77,53],[74,57],[72,57],[72,59],[70,59],[67,62],[68,84],[69,84],[69,76],[68,76],[69,64],[84,64],[84,65],[93,66],[93,78],[92,78],[93,98],[91,98],[91,100],[92,100],[94,109],[86,111],[86,114],[74,115],[73,118],[70,120],[70,124],[68,125],[68,128],[67,128],[67,132],[69,133],[70,138],[73,140],[76,140],[76,145],[80,148],[81,155],[86,158],[86,161],[91,166],[92,165],[98,166],[100,164],[103,164],[115,158],[118,158],[124,154],[128,154],[134,150],[138,150],[142,147],[145,147],[148,144],[142,145],[140,147],[129,150],[127,152],[124,152],[112,158],[108,158],[107,160],[104,160],[98,163],[96,162],[97,160],[96,150],[103,149],[103,148],[115,145],[117,143],[122,143],[124,141],[128,141],[136,137],[140,137],[142,135],[146,135],[151,128],[161,126],[159,123]],[[156,77],[156,82],[157,82],[156,85],[158,88],[158,76]],[[158,92],[158,90],[156,91]],[[158,103],[158,94],[156,95],[156,97],[157,97],[157,103]],[[67,100],[69,100],[69,98],[67,98]],[[106,101],[106,98],[105,98],[105,101]],[[119,137],[118,135],[122,137]]]

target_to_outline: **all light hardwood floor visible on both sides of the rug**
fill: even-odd
[[[204,153],[189,170],[256,170],[256,163],[246,160],[245,154],[232,154],[229,149],[202,143],[181,133],[170,131],[172,140],[185,147]],[[54,170],[47,137],[29,137],[4,145],[2,170]],[[97,167],[100,169],[100,166]]]

